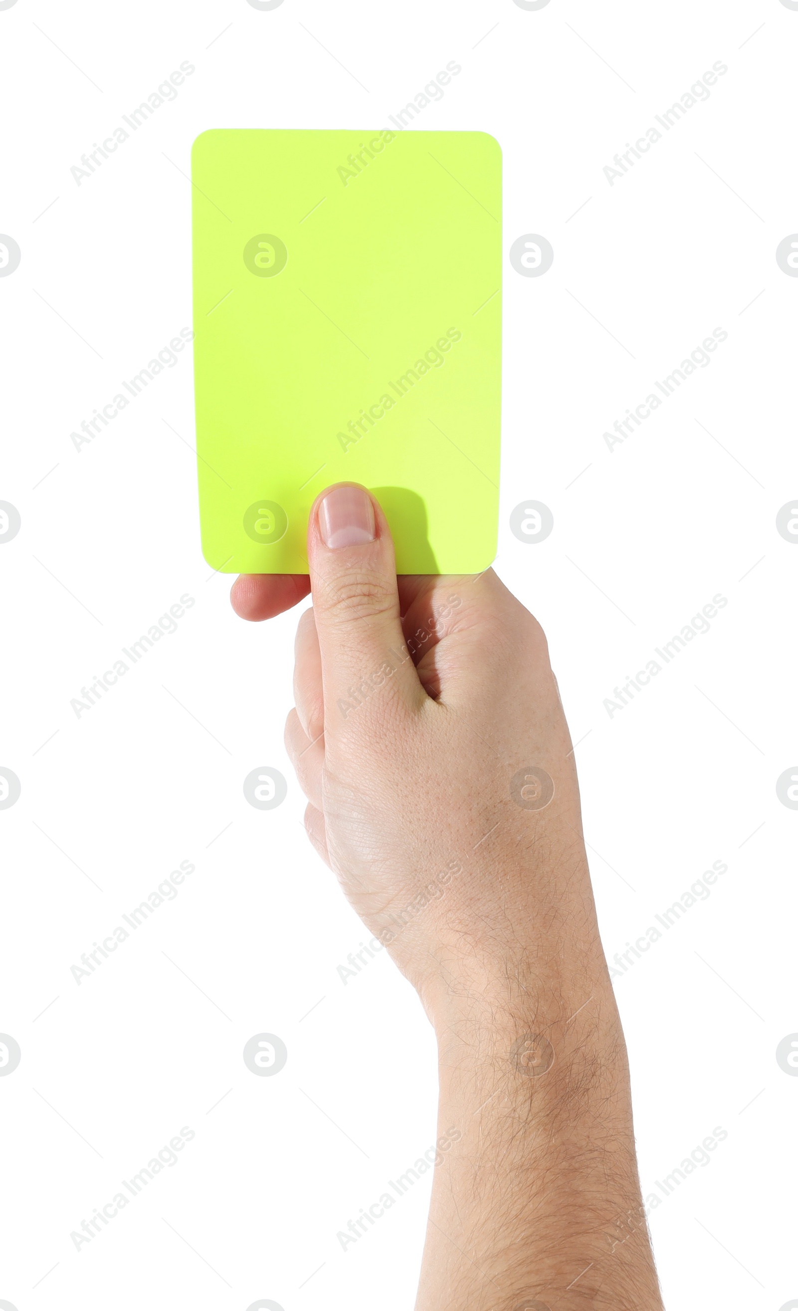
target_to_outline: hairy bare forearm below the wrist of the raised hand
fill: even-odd
[[[660,1311],[626,1050],[600,945],[498,979],[449,974],[417,1311]]]

